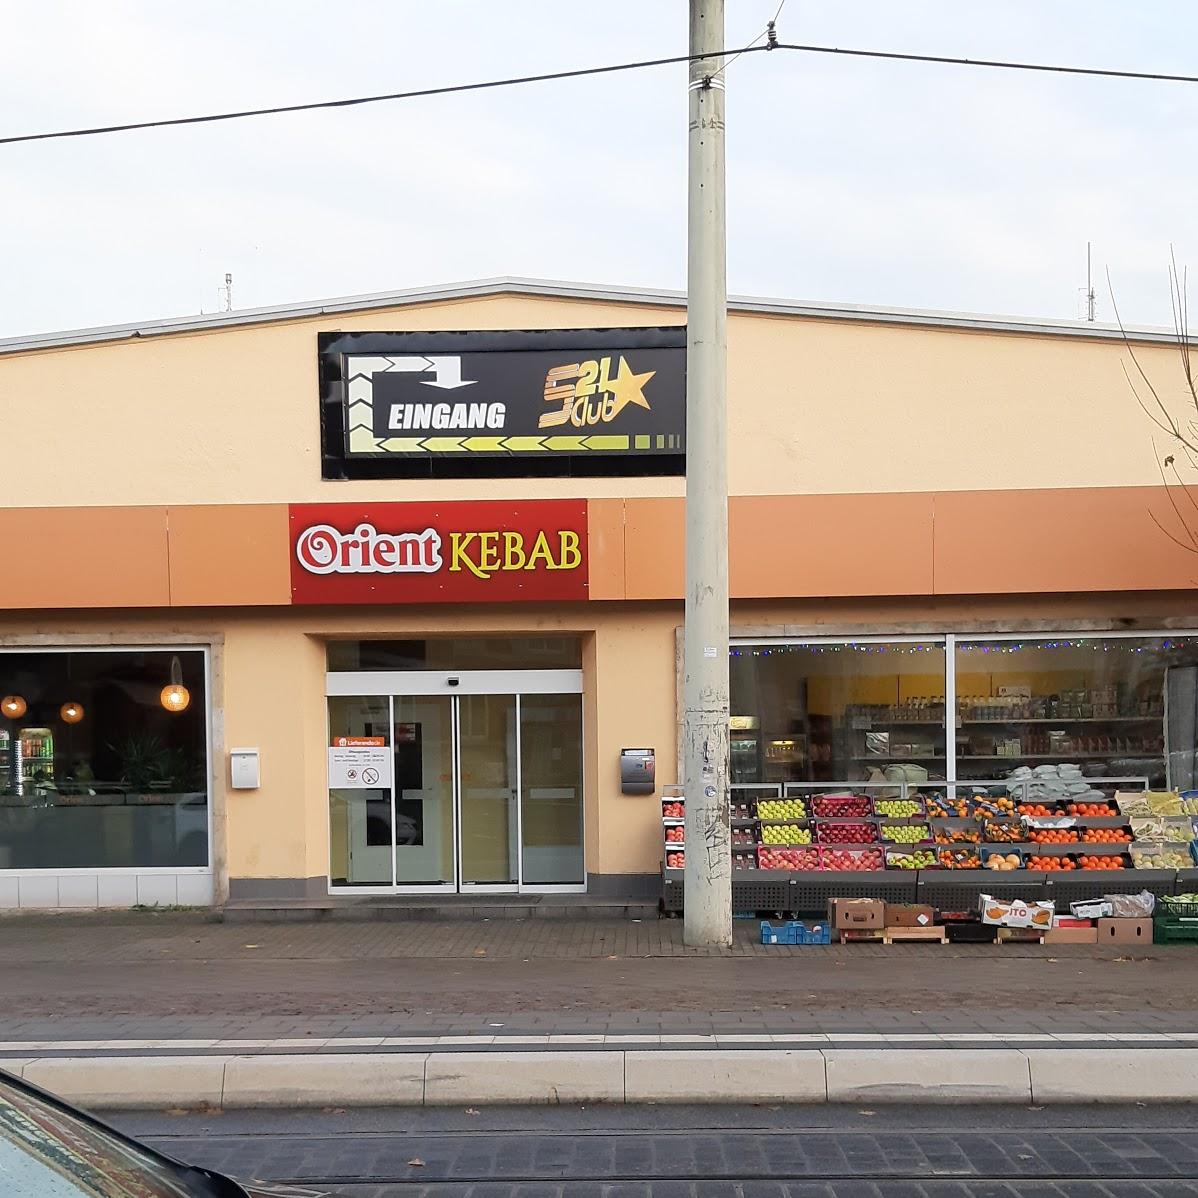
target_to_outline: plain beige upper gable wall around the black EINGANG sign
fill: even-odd
[[[322,482],[316,333],[682,319],[507,295],[0,356],[5,503],[679,495],[680,479]],[[1160,482],[1119,343],[746,313],[728,338],[734,494]],[[1180,398],[1176,351],[1137,352]]]

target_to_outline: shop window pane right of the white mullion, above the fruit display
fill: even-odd
[[[1196,783],[1198,639],[962,640],[957,776]]]

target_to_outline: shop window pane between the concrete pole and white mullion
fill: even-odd
[[[733,645],[732,781],[943,779],[937,641]]]

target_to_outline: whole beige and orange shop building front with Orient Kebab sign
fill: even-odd
[[[0,343],[0,906],[653,893],[684,319],[498,280]],[[1120,334],[728,338],[736,781],[1192,785],[1198,565]]]

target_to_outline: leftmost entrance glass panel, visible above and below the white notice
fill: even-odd
[[[380,696],[331,696],[329,743],[340,737],[391,743],[391,703]],[[392,884],[391,787],[329,787],[329,879],[334,887]]]

